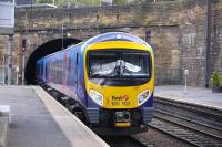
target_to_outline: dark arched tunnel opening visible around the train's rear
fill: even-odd
[[[37,61],[48,54],[62,50],[62,42],[63,42],[63,49],[65,49],[67,46],[71,44],[77,44],[81,42],[81,40],[64,38],[62,41],[62,39],[56,39],[56,40],[48,41],[44,44],[38,46],[29,56],[26,69],[24,69],[24,78],[28,85],[36,84]]]

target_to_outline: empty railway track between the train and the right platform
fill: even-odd
[[[167,99],[155,99],[150,127],[198,147],[222,146],[222,113]]]

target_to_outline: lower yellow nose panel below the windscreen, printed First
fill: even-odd
[[[150,90],[153,91],[153,80],[140,86],[100,86],[90,81],[87,83],[87,92],[95,90],[103,95],[103,107],[105,108],[135,108],[138,107],[138,95]]]

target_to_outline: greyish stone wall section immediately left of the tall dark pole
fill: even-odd
[[[188,9],[182,10],[181,14],[183,15],[179,42],[181,72],[190,71],[189,85],[204,86],[206,1],[188,3]]]

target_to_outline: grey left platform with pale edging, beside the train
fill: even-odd
[[[39,86],[0,86],[0,105],[11,108],[7,147],[107,147]]]

